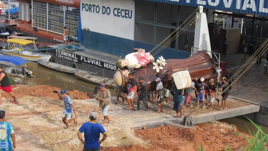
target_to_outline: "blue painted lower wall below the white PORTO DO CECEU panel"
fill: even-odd
[[[96,33],[88,30],[81,30],[81,45],[88,49],[123,57],[129,53],[132,53],[134,48],[142,48],[145,49],[146,52],[149,52],[155,47],[155,45],[152,44]],[[189,57],[190,54],[190,52],[186,51],[164,48],[162,51],[157,53],[157,55],[155,55],[155,58],[163,56],[165,59],[183,59]]]

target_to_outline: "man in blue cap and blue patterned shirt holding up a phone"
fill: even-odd
[[[73,105],[73,101],[70,98],[69,95],[66,94],[66,89],[62,89],[59,93],[58,93],[59,99],[63,100],[64,102],[64,111],[62,113],[62,122],[68,127],[70,122],[73,121],[73,123],[77,124],[77,114],[76,114],[76,110],[75,110],[75,105]],[[75,113],[75,117],[73,117],[73,113]]]

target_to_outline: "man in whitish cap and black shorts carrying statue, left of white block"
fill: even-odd
[[[156,92],[157,92],[157,101],[156,101],[156,103],[158,105],[157,112],[163,112],[164,109],[163,109],[163,105],[162,105],[162,100],[164,99],[164,96],[165,96],[163,84],[162,84],[160,78],[156,78],[155,81],[157,83],[157,86],[156,86]]]

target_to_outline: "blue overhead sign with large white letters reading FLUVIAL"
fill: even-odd
[[[158,3],[268,16],[268,0],[143,0]]]

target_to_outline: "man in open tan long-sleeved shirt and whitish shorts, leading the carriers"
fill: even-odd
[[[105,88],[105,84],[102,83],[99,85],[100,89],[97,92],[96,100],[100,101],[100,108],[102,111],[102,115],[104,116],[104,119],[102,121],[102,124],[110,123],[110,118],[108,116],[108,110],[111,107],[111,93],[108,89]]]

